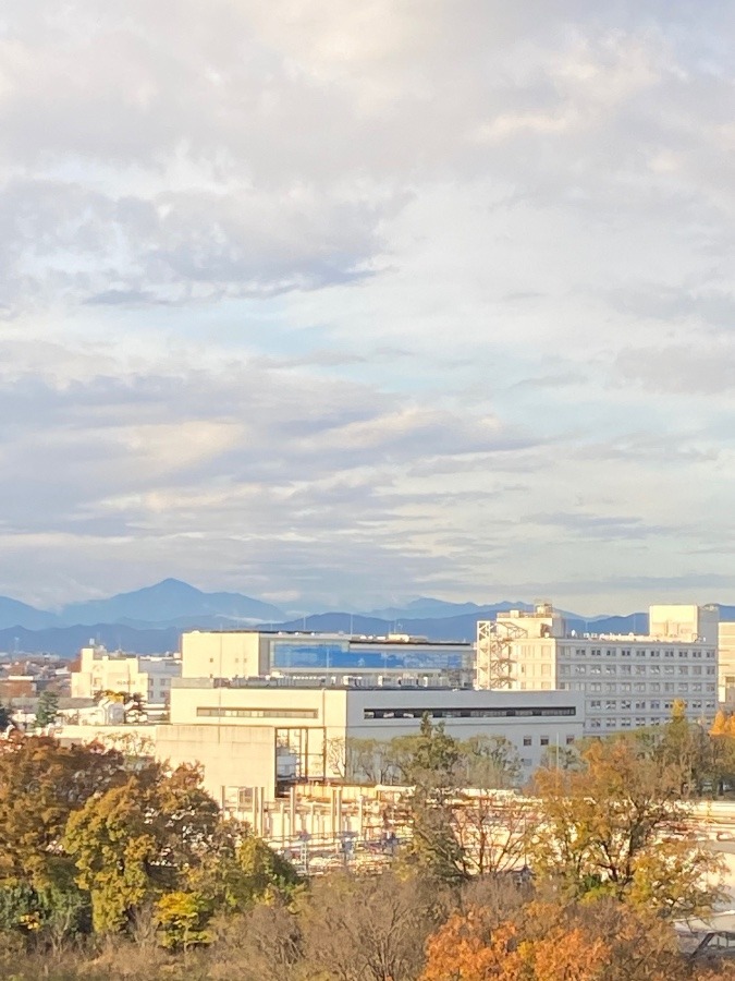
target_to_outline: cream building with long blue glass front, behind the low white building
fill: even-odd
[[[182,635],[181,652],[184,678],[287,676],[327,682],[382,676],[432,685],[443,679],[461,687],[471,687],[474,680],[471,643],[406,634],[194,630]]]

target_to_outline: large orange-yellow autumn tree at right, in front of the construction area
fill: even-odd
[[[687,829],[681,771],[639,759],[629,741],[593,743],[580,773],[539,771],[531,865],[568,895],[646,904],[661,915],[698,915],[719,891],[721,860]]]

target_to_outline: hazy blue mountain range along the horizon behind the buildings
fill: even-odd
[[[108,650],[140,654],[174,651],[182,630],[262,626],[270,630],[310,630],[382,637],[408,633],[429,640],[473,641],[478,620],[509,609],[532,609],[520,601],[480,606],[419,597],[404,606],[368,613],[320,613],[296,619],[277,606],[241,593],[206,593],[186,582],[166,579],[107,600],[73,603],[58,613],[36,609],[0,596],[0,651],[47,651],[74,656],[94,640]],[[648,614],[580,617],[562,611],[568,630],[584,633],[645,633]],[[721,606],[723,620],[735,620],[735,606]]]

